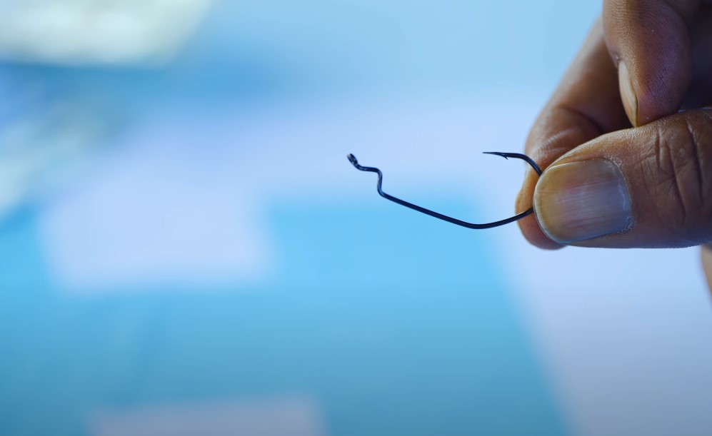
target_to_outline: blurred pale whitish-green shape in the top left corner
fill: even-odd
[[[61,65],[158,64],[211,0],[0,0],[0,58]]]

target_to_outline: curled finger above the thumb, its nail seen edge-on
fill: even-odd
[[[633,126],[676,113],[692,80],[688,24],[699,0],[606,0],[603,28]]]

